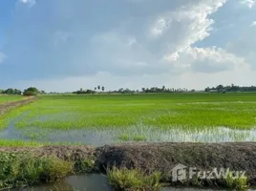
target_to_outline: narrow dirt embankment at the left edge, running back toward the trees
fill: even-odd
[[[0,116],[6,114],[8,111],[10,111],[13,108],[16,108],[16,107],[19,107],[19,106],[31,103],[35,99],[37,99],[37,97],[29,96],[29,97],[26,97],[26,98],[24,98],[22,100],[12,101],[12,102],[9,102],[9,103],[0,104]]]

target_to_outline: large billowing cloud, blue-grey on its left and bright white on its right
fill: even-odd
[[[206,0],[160,13],[150,23],[146,37],[129,36],[120,29],[99,33],[92,40],[96,64],[104,71],[120,75],[209,74],[246,67],[243,58],[223,49],[192,48],[194,43],[210,35],[214,21],[209,15],[224,3],[225,0]]]

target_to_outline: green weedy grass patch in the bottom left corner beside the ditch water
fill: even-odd
[[[54,182],[72,172],[70,162],[26,154],[0,153],[0,188]]]

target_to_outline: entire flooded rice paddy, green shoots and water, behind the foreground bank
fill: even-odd
[[[40,96],[0,116],[0,144],[254,141],[255,124],[256,93]]]

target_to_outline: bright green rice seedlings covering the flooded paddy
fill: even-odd
[[[183,137],[181,139],[187,137],[188,140],[197,141],[197,138],[191,138],[189,132],[194,134],[207,129],[211,133],[210,130],[220,127],[253,129],[256,124],[254,97],[255,93],[42,96],[33,103],[0,117],[0,128],[7,128],[15,120],[15,127],[24,132],[28,128],[44,129],[45,132],[117,130],[123,131],[117,134],[122,141],[142,141],[150,139],[146,128],[151,127],[155,132],[173,129],[181,133],[187,132],[183,136],[180,134]],[[17,117],[20,118],[16,119]],[[137,135],[133,133],[133,127],[138,127],[141,131],[144,128],[142,132],[138,132],[138,137],[141,138],[134,138]],[[148,134],[152,134],[151,132],[150,130]],[[28,137],[30,135],[34,139],[43,136],[28,131]],[[246,138],[244,134],[232,133],[228,137],[242,140]],[[169,140],[171,137],[165,138]]]

